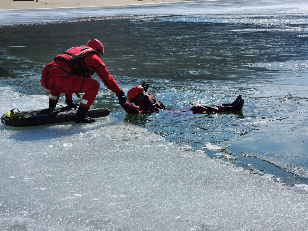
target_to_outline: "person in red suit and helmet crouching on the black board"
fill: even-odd
[[[74,118],[77,124],[95,122],[94,118],[86,116],[99,91],[99,82],[91,79],[94,73],[119,99],[124,96],[124,91],[120,89],[105,64],[100,60],[103,54],[103,44],[97,39],[91,39],[86,47],[72,47],[48,63],[43,68],[41,84],[50,91],[49,108],[55,108],[61,93],[64,93],[65,103],[69,107],[79,106]],[[84,95],[80,105],[76,105],[73,103],[72,95],[82,92]]]

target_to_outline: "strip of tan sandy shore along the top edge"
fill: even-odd
[[[157,2],[184,2],[193,0],[36,0],[34,1],[12,1],[1,0],[0,10],[13,9],[38,9],[56,7],[85,7],[85,6],[117,6],[131,4],[145,4]]]

